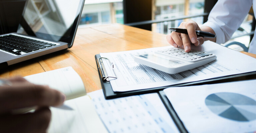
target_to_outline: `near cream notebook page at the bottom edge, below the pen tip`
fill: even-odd
[[[71,109],[50,108],[52,116],[48,133],[107,133],[89,96],[74,98],[64,104]]]

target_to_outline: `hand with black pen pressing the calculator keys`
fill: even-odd
[[[170,30],[175,32],[167,35],[167,42],[174,47],[183,48],[185,52],[191,50],[191,44],[200,46],[206,40],[216,41],[215,33],[210,27],[201,29],[194,21],[182,22],[178,28],[170,28]]]

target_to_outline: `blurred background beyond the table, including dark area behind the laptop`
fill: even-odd
[[[35,0],[37,7],[45,0]],[[193,20],[199,25],[207,17],[217,0],[85,0],[79,28],[119,23],[161,34],[170,34],[168,28],[178,27],[181,22]],[[15,32],[16,23],[22,13],[25,0],[0,0],[1,33]],[[7,12],[5,5],[10,4],[14,11]],[[4,22],[6,16],[9,22]],[[13,16],[10,18],[10,16]],[[234,33],[230,42],[240,42],[249,47],[255,29],[253,10],[245,18],[241,27]],[[236,51],[244,49],[239,45],[229,48]]]

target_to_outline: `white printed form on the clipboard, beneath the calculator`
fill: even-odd
[[[172,46],[166,48],[169,47]],[[210,41],[206,41],[200,47],[192,47],[192,49],[213,53],[217,56],[217,60],[192,70],[177,74],[168,74],[134,62],[135,55],[150,53],[163,48],[100,53],[101,57],[108,58],[114,65],[114,72],[117,79],[110,80],[113,91],[121,92],[162,87],[256,71],[256,67],[252,67],[256,66],[256,59]],[[103,63],[108,75],[114,75],[111,65],[109,65],[107,60],[103,60]]]

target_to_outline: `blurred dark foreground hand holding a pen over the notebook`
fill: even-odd
[[[22,77],[0,79],[0,132],[46,132],[51,119],[49,106],[60,106],[66,96],[49,86],[36,85]],[[36,107],[34,112],[13,110]]]

